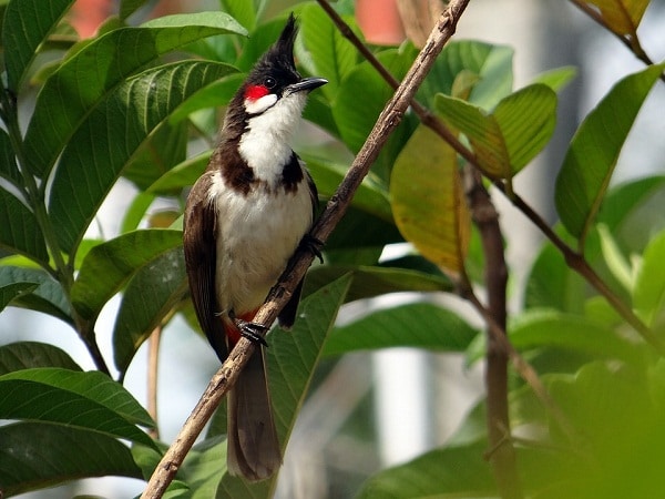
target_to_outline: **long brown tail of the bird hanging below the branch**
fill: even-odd
[[[265,480],[282,465],[263,350],[257,346],[227,403],[228,471],[252,481]]]

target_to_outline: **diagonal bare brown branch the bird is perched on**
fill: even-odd
[[[469,0],[451,0],[448,8],[439,18],[434,29],[418,54],[413,65],[405,77],[405,81],[397,89],[392,99],[386,104],[372,131],[368,135],[362,149],[356,155],[345,179],[337,192],[329,200],[326,210],[315,224],[311,235],[325,242],[332,228],[344,216],[351,197],[369,167],[378,156],[381,147],[390,133],[399,124],[401,116],[407,111],[412,96],[431,69],[443,44],[456,31],[458,20],[467,8]],[[294,255],[288,269],[280,277],[279,283],[270,292],[266,303],[256,314],[254,322],[270,325],[277,318],[279,310],[286,305],[296,285],[303,278],[311,264],[314,255],[307,251],[299,251]],[[180,435],[166,451],[162,461],[153,472],[142,498],[161,498],[175,477],[194,440],[209,419],[219,401],[233,386],[243,366],[254,353],[254,345],[246,338],[241,338],[226,361],[208,384],[192,415],[183,426]]]

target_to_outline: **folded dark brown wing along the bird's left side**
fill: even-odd
[[[212,172],[206,172],[190,192],[185,207],[183,246],[192,303],[198,324],[219,360],[228,356],[224,326],[218,317],[215,292],[217,215],[208,201]]]

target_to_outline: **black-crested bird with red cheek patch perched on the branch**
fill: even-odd
[[[310,91],[294,61],[291,13],[227,105],[219,141],[187,196],[183,247],[198,323],[221,361],[241,337],[256,345],[227,397],[227,470],[264,480],[282,465],[265,367],[265,328],[253,323],[289,257],[309,236],[317,190],[290,141]],[[278,316],[296,318],[303,282]]]

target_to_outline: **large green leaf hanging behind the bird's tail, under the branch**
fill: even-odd
[[[268,336],[270,347],[266,349],[266,364],[275,424],[283,447],[307,396],[326,336],[332,328],[350,282],[350,276],[344,276],[308,296],[300,303],[293,332],[275,329]],[[226,473],[219,482],[216,497],[267,497],[275,481],[276,477],[248,483]]]

